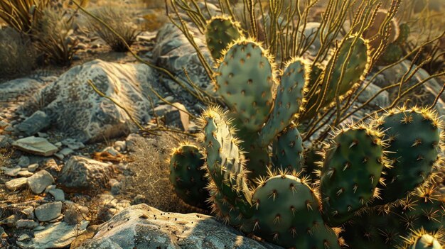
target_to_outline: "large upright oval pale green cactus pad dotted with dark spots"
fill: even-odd
[[[267,51],[253,40],[237,40],[225,52],[215,76],[215,89],[242,126],[262,128],[272,109],[274,66]]]

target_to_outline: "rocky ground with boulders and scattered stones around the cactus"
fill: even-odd
[[[88,80],[146,128],[194,133],[193,117],[180,109],[198,115],[203,104],[132,55],[77,35],[82,48],[72,67],[0,83],[0,248],[278,248],[183,204],[168,182],[167,161],[172,148],[193,138],[140,131]],[[203,48],[203,38],[195,39]],[[185,67],[199,87],[210,86],[193,47],[171,24],[137,40],[133,48],[144,60],[180,79]],[[409,61],[379,75],[359,101],[407,67]],[[420,71],[413,81],[425,77]],[[442,84],[427,82],[427,99]],[[390,94],[373,106],[387,105]]]

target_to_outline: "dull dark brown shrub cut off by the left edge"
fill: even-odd
[[[14,77],[30,72],[36,62],[36,53],[28,36],[12,28],[0,29],[0,78]]]

